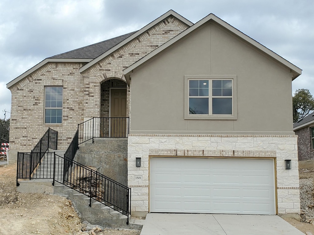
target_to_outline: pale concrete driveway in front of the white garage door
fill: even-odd
[[[141,235],[304,235],[279,216],[150,213]]]

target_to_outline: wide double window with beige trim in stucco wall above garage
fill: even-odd
[[[237,119],[236,75],[186,75],[185,119]]]

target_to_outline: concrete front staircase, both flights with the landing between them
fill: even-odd
[[[91,207],[89,207],[89,197],[69,188],[66,185],[62,185],[55,181],[55,186],[52,186],[53,178],[53,152],[56,152],[59,156],[64,156],[64,150],[49,150],[49,154],[45,154],[41,160],[41,164],[37,170],[33,173],[31,180],[19,181],[20,186],[17,190],[22,193],[46,193],[55,194],[59,196],[65,196],[73,202],[74,208],[76,208],[82,221],[88,221],[90,224],[98,224],[101,226],[125,226],[127,223],[127,216],[122,213],[113,210],[109,206],[92,199]],[[52,153],[52,154],[50,154]],[[62,181],[63,160],[56,161],[58,165],[59,173],[55,173],[55,179]],[[36,177],[38,177],[36,179]],[[41,178],[39,178],[41,177]],[[42,177],[47,177],[43,179]],[[48,179],[50,178],[51,179]],[[58,177],[58,178],[57,178]],[[129,216],[130,219],[130,216]],[[131,225],[131,227],[137,228],[137,225]]]

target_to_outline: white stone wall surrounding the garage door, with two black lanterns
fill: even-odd
[[[148,212],[150,155],[276,158],[278,213],[300,213],[297,136],[129,134],[128,186],[133,213]],[[136,157],[142,158],[141,167],[135,167]],[[291,159],[291,170],[285,170],[285,159]],[[134,175],[143,175],[143,179],[134,180]]]

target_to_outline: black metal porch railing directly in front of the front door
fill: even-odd
[[[78,144],[94,138],[126,138],[129,118],[91,118],[78,124]]]

